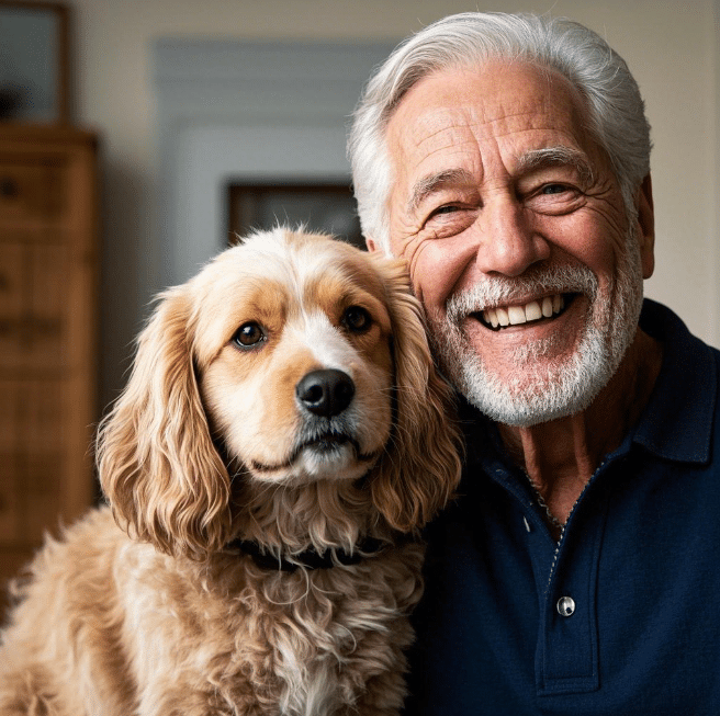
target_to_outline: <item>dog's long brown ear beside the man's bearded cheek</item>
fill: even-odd
[[[376,258],[375,258],[376,257]],[[421,527],[460,481],[460,433],[452,389],[428,346],[423,309],[410,294],[405,264],[373,254],[387,294],[395,362],[396,424],[371,480],[375,507],[395,529]]]

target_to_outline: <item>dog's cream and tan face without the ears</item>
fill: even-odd
[[[385,287],[367,254],[326,238],[250,238],[192,283],[213,432],[258,480],[353,479],[391,432]]]

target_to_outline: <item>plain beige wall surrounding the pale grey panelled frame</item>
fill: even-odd
[[[160,36],[400,39],[469,9],[552,10],[626,58],[653,126],[657,268],[648,294],[720,345],[719,0],[75,0],[77,116],[104,138],[103,398],[149,300],[143,254],[157,219],[151,42]],[[153,287],[155,288],[155,287]]]

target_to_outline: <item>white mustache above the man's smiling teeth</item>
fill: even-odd
[[[542,295],[580,293],[592,303],[597,287],[595,274],[586,266],[549,266],[529,271],[516,279],[486,277],[448,299],[447,318],[451,325],[459,326],[470,314],[524,304]]]

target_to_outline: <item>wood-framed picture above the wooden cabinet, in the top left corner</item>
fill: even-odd
[[[69,122],[69,10],[0,0],[0,122]]]

